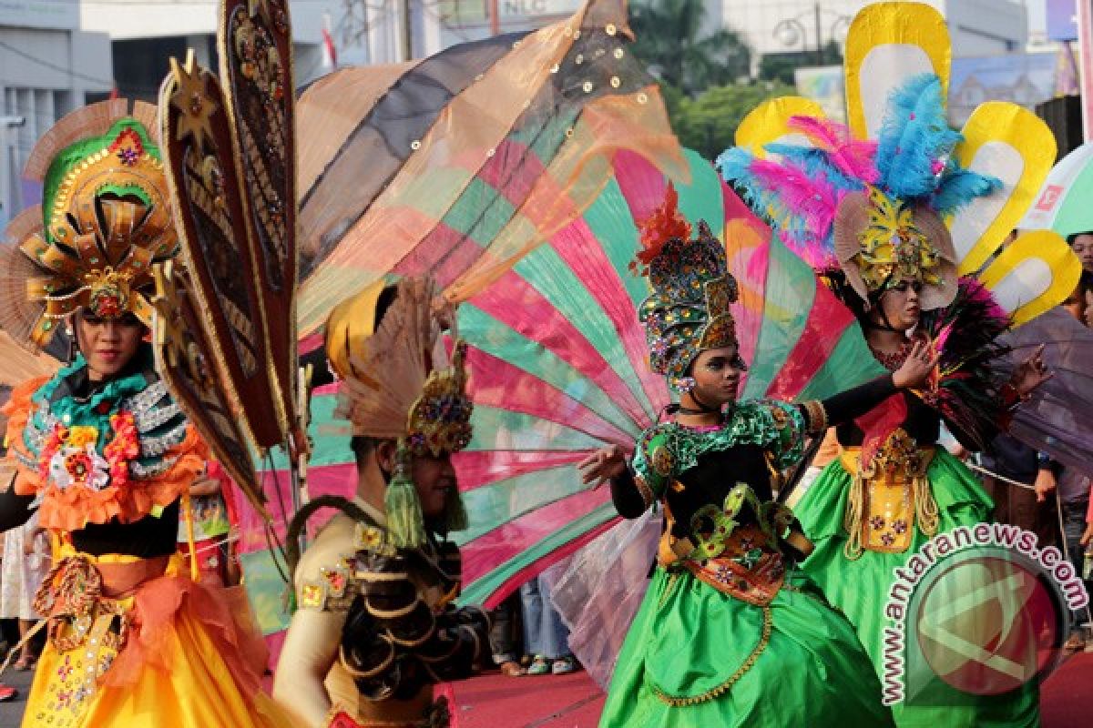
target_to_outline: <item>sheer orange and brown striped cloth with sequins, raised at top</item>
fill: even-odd
[[[299,323],[388,273],[465,300],[575,219],[632,150],[683,172],[625,2],[421,61],[348,69],[298,105]]]

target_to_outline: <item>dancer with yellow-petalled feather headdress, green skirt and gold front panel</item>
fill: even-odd
[[[940,355],[926,386],[837,426],[839,457],[795,506],[815,544],[802,568],[855,625],[879,675],[893,570],[931,537],[990,521],[978,480],[937,446],[940,425],[969,450],[1004,427],[1050,374],[1039,350],[1003,372],[997,337],[1060,302],[1078,275],[1066,243],[1046,231],[1019,236],[994,256],[1046,176],[1054,140],[1010,104],[985,104],[963,132],[951,129],[947,40],[944,21],[926,5],[870,5],[848,40],[849,129],[804,99],[777,99],[752,112],[738,146],[718,160],[756,214],[823,268],[880,365],[896,370],[922,346]],[[908,48],[920,62],[878,60]],[[784,141],[795,133],[804,141]],[[976,152],[987,147],[1009,159],[991,163],[989,175]],[[977,622],[984,632],[996,624],[982,612]],[[1014,634],[1025,626],[1019,620]],[[916,685],[893,715],[901,726],[1037,725],[1034,663],[1021,666],[1020,679],[985,665],[971,690],[947,682],[965,663],[933,666],[940,671],[927,689]]]

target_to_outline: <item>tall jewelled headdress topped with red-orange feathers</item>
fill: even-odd
[[[737,282],[726,270],[725,247],[705,222],[691,238],[691,225],[677,208],[669,184],[663,204],[642,225],[642,250],[632,266],[648,275],[653,295],[638,309],[653,371],[674,391],[694,387],[691,362],[700,353],[737,345],[729,306]]]

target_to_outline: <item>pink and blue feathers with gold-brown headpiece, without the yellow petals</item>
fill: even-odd
[[[1001,181],[955,159],[963,136],[945,120],[941,80],[924,73],[895,88],[875,140],[808,116],[787,127],[808,145],[766,144],[765,157],[733,147],[718,158],[752,208],[812,265],[837,262],[863,299],[909,279],[922,284],[922,309],[948,305],[957,261],[943,219]]]

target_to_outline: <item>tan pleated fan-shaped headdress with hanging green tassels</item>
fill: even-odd
[[[396,546],[413,548],[424,542],[425,532],[410,478],[412,458],[455,453],[471,439],[466,345],[457,339],[450,361],[442,363],[447,356],[440,334],[448,321],[433,308],[438,291],[431,281],[399,282],[395,300],[378,317],[385,288],[380,281],[334,308],[327,322],[327,356],[342,379],[334,415],[352,422],[354,435],[398,441],[385,502],[387,525]],[[449,505],[445,527],[466,528],[458,497]]]

